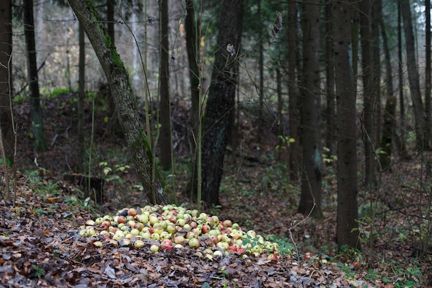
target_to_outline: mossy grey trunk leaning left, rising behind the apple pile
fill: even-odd
[[[123,129],[135,169],[137,169],[139,180],[144,187],[144,193],[153,204],[175,202],[175,195],[161,178],[159,169],[153,167],[153,153],[148,144],[141,119],[139,119],[137,100],[132,93],[128,72],[115,46],[112,45],[104,21],[101,20],[95,6],[90,1],[68,0],[68,2],[84,26],[87,37],[110,84],[119,124]],[[156,175],[154,181],[152,181],[153,169],[155,169]]]

